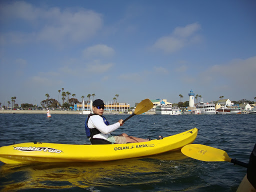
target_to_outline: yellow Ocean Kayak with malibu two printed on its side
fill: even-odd
[[[0,161],[4,163],[88,162],[154,155],[178,150],[192,143],[197,131],[197,128],[192,128],[162,139],[125,144],[25,142],[0,147]]]

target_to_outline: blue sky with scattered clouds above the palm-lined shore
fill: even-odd
[[[254,100],[255,9],[255,0],[0,0],[0,102],[40,105],[46,93],[61,100],[61,88],[130,106],[186,101],[191,89],[204,102]]]

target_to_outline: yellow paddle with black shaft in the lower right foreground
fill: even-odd
[[[236,160],[235,158],[230,158],[224,150],[203,144],[187,144],[181,148],[181,152],[197,160],[228,161],[246,168],[248,167],[247,163]]]

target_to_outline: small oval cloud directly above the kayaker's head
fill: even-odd
[[[113,56],[114,53],[114,49],[105,44],[96,44],[82,51],[83,56],[87,58],[108,58]]]

